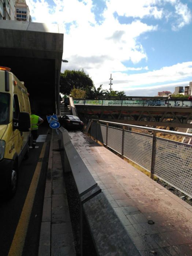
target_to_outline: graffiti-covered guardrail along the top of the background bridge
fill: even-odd
[[[192,101],[177,99],[73,99],[74,105],[160,106],[192,108]]]

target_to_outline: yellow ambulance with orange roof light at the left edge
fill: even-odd
[[[30,103],[23,82],[0,67],[0,194],[14,195],[18,168],[29,156]]]

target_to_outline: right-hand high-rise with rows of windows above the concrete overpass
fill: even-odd
[[[25,0],[16,0],[16,20],[31,21],[29,7]]]

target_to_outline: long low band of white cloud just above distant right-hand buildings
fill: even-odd
[[[143,68],[144,69],[144,68]],[[130,69],[131,70],[131,69]],[[147,70],[147,68],[146,68]],[[127,75],[122,72],[112,72],[113,77],[113,90],[133,92],[137,91],[137,95],[142,95],[141,90],[145,95],[157,95],[157,89],[165,88],[168,84],[169,87],[174,87],[176,84],[188,83],[192,74],[192,62],[178,63],[170,67],[163,67],[159,70],[148,71],[140,74]],[[101,79],[97,80],[97,75],[94,74],[95,85],[103,84],[103,89],[108,87],[108,74],[102,74]],[[178,82],[181,81],[181,82]],[[183,82],[185,81],[185,82]],[[187,81],[187,82],[186,82]],[[166,84],[165,84],[166,83]],[[164,84],[164,85],[163,85]],[[162,89],[163,90],[163,89]],[[170,90],[170,89],[167,89]],[[151,95],[153,91],[153,94]],[[155,93],[156,91],[156,93]],[[173,90],[172,90],[173,91]],[[130,94],[129,94],[130,95]]]

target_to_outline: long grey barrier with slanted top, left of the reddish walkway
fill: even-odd
[[[140,255],[63,127],[59,128],[59,141],[64,172],[72,172],[79,193],[81,252],[83,252],[83,218],[85,218],[97,255]]]

